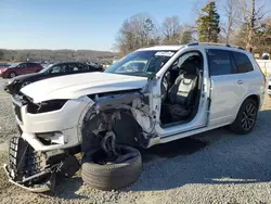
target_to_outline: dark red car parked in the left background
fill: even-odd
[[[2,78],[13,78],[17,75],[25,75],[40,72],[43,67],[39,63],[25,62],[17,65],[0,68],[0,76]]]

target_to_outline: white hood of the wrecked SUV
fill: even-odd
[[[54,99],[78,99],[81,95],[141,89],[147,82],[145,77],[109,73],[83,73],[36,81],[21,89],[34,103]]]

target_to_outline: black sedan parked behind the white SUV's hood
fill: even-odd
[[[24,76],[17,76],[8,81],[4,86],[4,90],[11,94],[18,93],[20,89],[30,82],[38,81],[46,78],[57,77],[62,75],[90,73],[90,72],[103,72],[102,66],[96,64],[87,64],[81,62],[64,62],[50,64],[46,66],[41,72],[28,74]]]

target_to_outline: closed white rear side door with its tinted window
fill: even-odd
[[[238,74],[230,51],[207,50],[211,79],[210,126],[232,123],[247,92],[243,74]]]

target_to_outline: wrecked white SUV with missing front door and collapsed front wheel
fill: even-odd
[[[82,179],[118,189],[140,176],[140,153],[221,126],[253,130],[266,81],[249,52],[191,43],[137,50],[104,73],[27,85],[13,95],[21,136],[5,170],[13,183],[42,192],[55,174],[72,176],[83,153]],[[64,170],[63,170],[64,169]],[[99,175],[100,174],[100,175]]]

